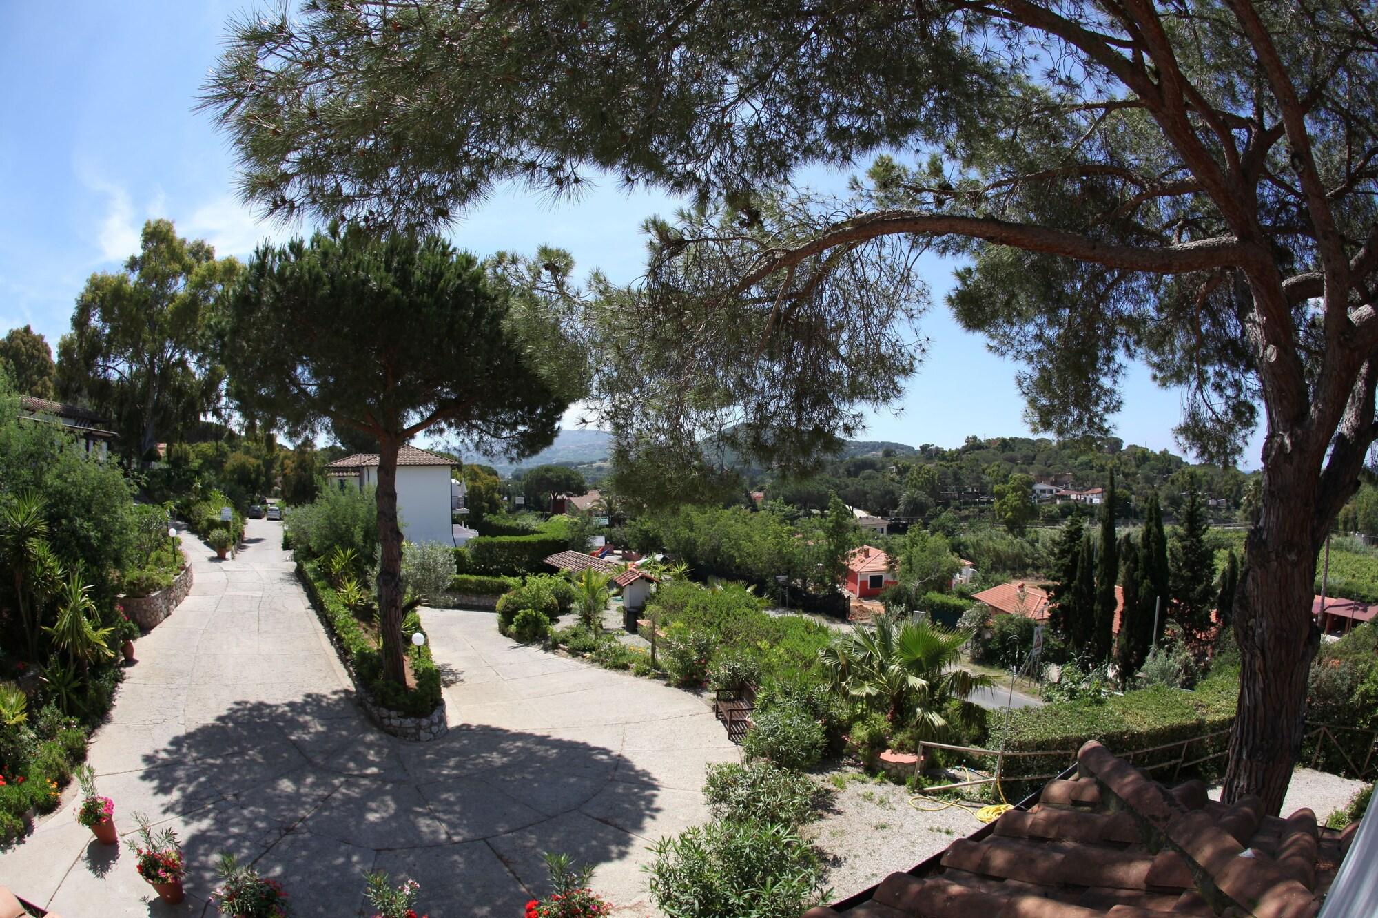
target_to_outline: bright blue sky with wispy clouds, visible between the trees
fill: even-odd
[[[234,197],[234,167],[209,119],[193,113],[226,18],[240,1],[25,3],[0,30],[0,332],[32,324],[56,340],[92,272],[113,270],[138,247],[145,219],[167,216],[183,236],[244,256],[265,236]],[[584,269],[638,276],[650,214],[675,203],[626,194],[612,182],[575,204],[550,205],[521,189],[474,212],[452,234],[486,254],[569,249]],[[927,262],[934,306],[923,320],[929,357],[896,411],[874,412],[867,438],[958,445],[967,434],[1028,434],[1014,386],[1017,364],[991,354],[943,307],[951,265]],[[1126,442],[1180,452],[1171,437],[1181,396],[1145,368],[1124,379],[1113,419]],[[1244,456],[1258,465],[1258,442]]]

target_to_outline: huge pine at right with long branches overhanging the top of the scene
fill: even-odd
[[[1378,437],[1371,36],[1341,0],[310,3],[237,21],[204,105],[282,215],[429,225],[594,170],[692,194],[639,285],[594,291],[605,328],[637,310],[595,380],[628,455],[693,459],[726,419],[768,460],[835,445],[915,365],[923,251],[967,259],[952,306],[1029,363],[1042,429],[1105,433],[1126,353],[1207,455],[1261,416],[1224,795],[1276,812],[1315,557]],[[787,185],[889,150],[842,200]]]

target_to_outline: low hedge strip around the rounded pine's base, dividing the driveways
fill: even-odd
[[[373,700],[398,714],[426,717],[441,703],[440,670],[431,659],[430,644],[407,645],[407,656],[416,677],[416,689],[405,688],[383,678],[383,653],[373,638],[364,630],[358,619],[339,594],[321,576],[316,561],[298,561],[296,572],[302,578],[311,606],[335,640],[336,649],[354,673],[354,678]]]

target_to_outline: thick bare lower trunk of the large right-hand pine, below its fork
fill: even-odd
[[[1306,722],[1306,677],[1320,646],[1312,622],[1316,580],[1315,474],[1277,456],[1264,470],[1262,516],[1244,543],[1235,597],[1239,706],[1224,799],[1262,798],[1282,809]]]

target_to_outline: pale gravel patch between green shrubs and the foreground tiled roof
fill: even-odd
[[[805,834],[828,855],[830,901],[908,870],[981,827],[966,809],[915,809],[909,791],[900,784],[875,783],[852,768],[828,777],[835,775],[845,776],[846,787],[831,795],[831,810],[823,819],[805,827]]]

